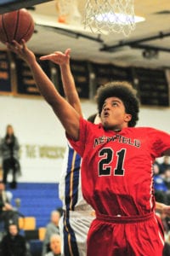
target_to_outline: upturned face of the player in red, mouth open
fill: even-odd
[[[109,130],[122,130],[131,120],[131,114],[126,113],[122,100],[117,97],[105,100],[100,117],[102,125]]]

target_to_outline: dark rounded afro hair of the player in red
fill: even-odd
[[[132,84],[125,81],[114,81],[101,85],[97,90],[96,96],[99,115],[102,111],[105,99],[112,96],[120,98],[125,106],[126,113],[132,115],[132,119],[129,121],[128,126],[135,126],[139,119],[139,99],[137,97],[137,90],[134,90]]]

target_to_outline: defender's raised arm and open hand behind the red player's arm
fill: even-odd
[[[80,99],[71,73],[70,53],[71,49],[66,49],[65,53],[55,51],[53,54],[42,56],[40,60],[53,61],[55,64],[59,65],[65,96],[71,106],[75,108],[80,115],[82,115]]]

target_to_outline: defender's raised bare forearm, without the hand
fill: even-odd
[[[61,71],[61,79],[63,82],[63,88],[65,91],[65,96],[67,98],[67,101],[71,104],[73,108],[77,110],[77,113],[82,115],[81,103],[77,93],[75,81],[71,73],[70,64],[67,63],[65,65],[61,65],[60,71]]]

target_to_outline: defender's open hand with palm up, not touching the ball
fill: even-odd
[[[66,49],[65,53],[62,53],[61,51],[54,51],[53,54],[50,55],[44,55],[40,57],[41,61],[53,61],[55,64],[58,64],[59,66],[63,66],[69,63],[70,61],[70,54],[71,49]]]

